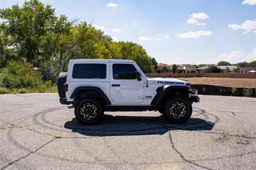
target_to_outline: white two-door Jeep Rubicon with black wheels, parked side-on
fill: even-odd
[[[175,78],[148,78],[133,60],[70,60],[58,77],[61,104],[72,104],[77,120],[93,124],[104,111],[159,111],[182,124],[199,102],[197,90]]]

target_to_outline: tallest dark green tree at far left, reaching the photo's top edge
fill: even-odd
[[[1,32],[8,37],[9,46],[13,47],[20,59],[26,58],[32,64],[36,64],[38,60],[49,59],[54,50],[45,49],[49,46],[54,48],[56,43],[44,43],[45,36],[58,38],[63,32],[63,26],[66,26],[63,23],[67,23],[66,17],[56,17],[54,8],[38,0],[25,1],[21,7],[13,5],[11,8],[0,10],[0,18],[3,19]],[[45,52],[48,55],[45,55]]]

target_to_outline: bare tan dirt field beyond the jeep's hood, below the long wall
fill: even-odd
[[[256,87],[256,78],[209,78],[209,77],[193,77],[193,78],[177,78],[179,80],[187,80],[191,84],[218,85],[223,87]]]

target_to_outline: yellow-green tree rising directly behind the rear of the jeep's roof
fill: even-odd
[[[67,71],[70,59],[112,59],[120,55],[120,47],[113,43],[110,36],[86,22],[74,25],[70,34],[61,36],[59,43],[57,57],[63,71]]]

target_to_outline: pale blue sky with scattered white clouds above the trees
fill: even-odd
[[[256,60],[256,0],[42,0],[166,64]],[[0,0],[0,8],[22,0]]]

